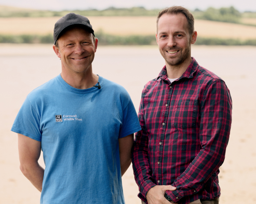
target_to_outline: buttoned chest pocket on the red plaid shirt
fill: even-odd
[[[173,113],[173,125],[187,129],[196,126],[197,101],[177,102]]]

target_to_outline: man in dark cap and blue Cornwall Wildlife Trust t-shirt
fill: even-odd
[[[54,40],[62,71],[27,96],[11,128],[20,169],[41,191],[41,204],[124,204],[121,176],[141,129],[132,100],[92,73],[98,39],[86,17],[60,18]]]

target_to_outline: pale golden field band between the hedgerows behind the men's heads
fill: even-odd
[[[52,34],[59,18],[0,18],[0,34]],[[89,19],[96,33],[102,31],[114,36],[146,36],[155,35],[156,32],[156,18],[153,16],[90,16]],[[241,40],[256,38],[256,27],[234,23],[196,19],[195,29],[200,37]]]

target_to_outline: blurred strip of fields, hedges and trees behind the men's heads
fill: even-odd
[[[69,12],[88,16],[102,45],[156,44],[158,9],[41,11],[8,6],[0,6],[0,43],[53,43],[54,23]],[[199,36],[196,44],[256,46],[256,13],[240,13],[234,7],[192,13]]]

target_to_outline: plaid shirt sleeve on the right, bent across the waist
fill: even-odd
[[[203,189],[207,180],[222,165],[230,135],[231,113],[232,99],[225,82],[214,80],[204,91],[200,104],[202,149],[184,173],[173,182],[172,185],[177,187],[177,190],[166,191],[173,202],[177,203],[182,197],[190,196]],[[143,124],[141,125],[143,127]],[[141,153],[138,157],[142,159],[146,157],[146,153]],[[148,179],[150,171],[147,168],[142,171],[145,171],[145,174],[139,179]],[[141,189],[146,192],[144,186],[147,185],[144,184]]]

